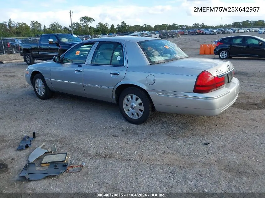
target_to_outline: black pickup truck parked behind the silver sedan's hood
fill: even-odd
[[[42,34],[39,43],[21,43],[19,50],[24,62],[32,65],[35,60],[51,60],[56,55],[61,56],[81,41],[72,34]]]

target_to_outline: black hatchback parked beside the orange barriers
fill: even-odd
[[[214,54],[220,59],[236,57],[265,58],[265,39],[257,36],[230,36],[217,41]]]

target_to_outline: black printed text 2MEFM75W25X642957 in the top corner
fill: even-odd
[[[194,7],[193,12],[258,12],[260,7]]]

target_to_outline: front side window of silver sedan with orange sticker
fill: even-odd
[[[68,52],[65,53],[62,63],[85,64],[87,55],[92,46],[93,43],[84,43],[71,48]]]

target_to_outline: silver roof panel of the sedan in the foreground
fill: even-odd
[[[146,40],[162,40],[160,38],[151,38],[151,37],[138,37],[138,36],[119,36],[119,37],[103,37],[103,38],[92,38],[89,39],[90,41],[116,41],[116,42],[121,42],[121,41],[132,41],[132,42],[139,42],[139,41],[146,41]],[[87,42],[87,40],[82,41]]]

